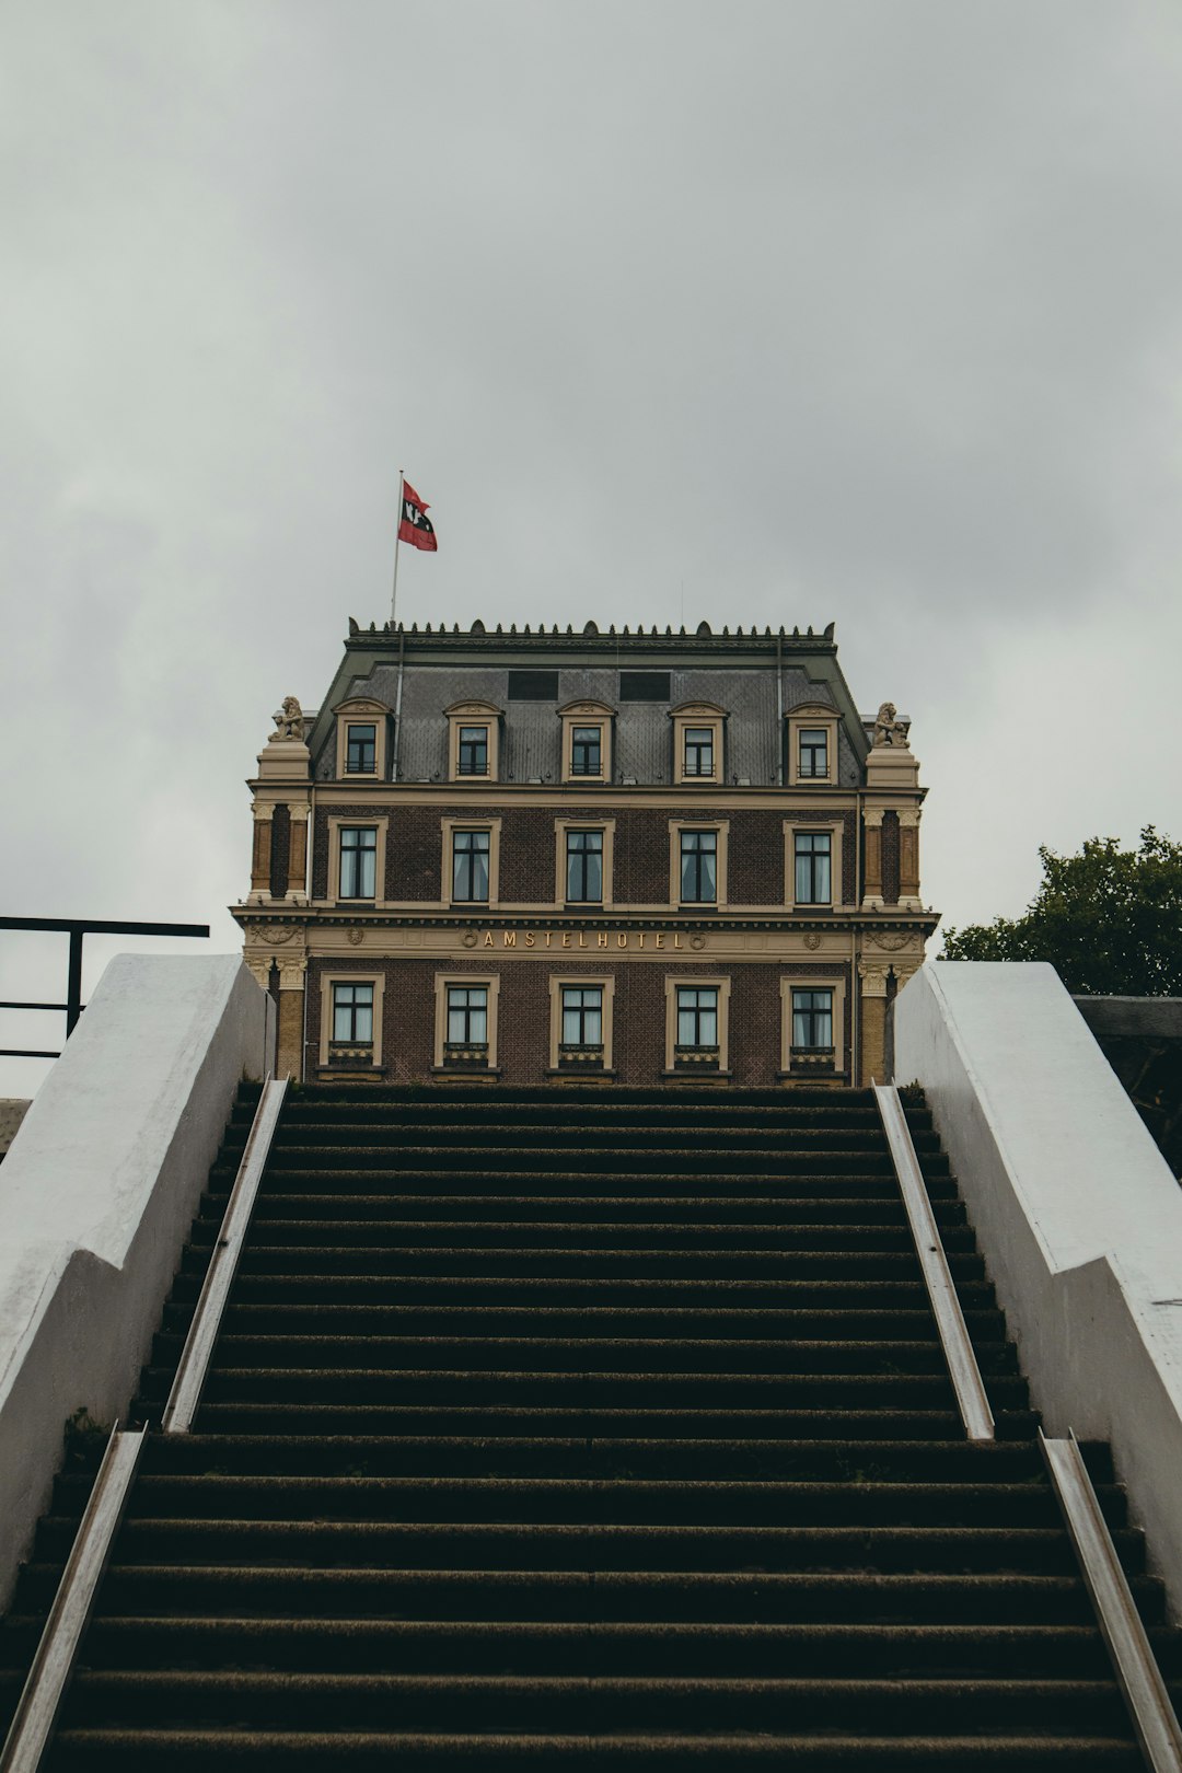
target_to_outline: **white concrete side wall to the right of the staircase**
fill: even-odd
[[[939,961],[895,1000],[1049,1434],[1111,1441],[1182,1619],[1182,1188],[1053,966]]]

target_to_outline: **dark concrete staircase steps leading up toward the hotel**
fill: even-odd
[[[51,1766],[1141,1766],[911,1126],[994,1445],[964,1441],[868,1092],[296,1090],[198,1433],[144,1456]],[[58,1480],[0,1635],[11,1700],[87,1489]]]

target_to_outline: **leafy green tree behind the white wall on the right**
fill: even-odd
[[[1182,996],[1182,844],[1148,824],[1139,849],[1090,837],[1038,856],[1026,913],[946,929],[941,961],[1049,961],[1079,996]]]

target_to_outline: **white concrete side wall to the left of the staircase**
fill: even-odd
[[[122,1415],[271,1000],[237,956],[121,954],[0,1165],[0,1606],[78,1408]]]

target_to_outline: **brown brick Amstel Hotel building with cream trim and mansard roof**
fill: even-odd
[[[349,624],[250,782],[280,1073],[863,1083],[923,961],[918,764],[833,628]]]

